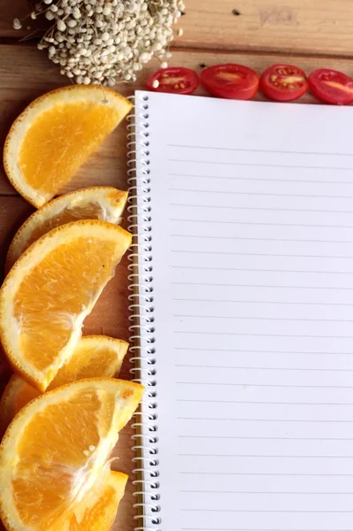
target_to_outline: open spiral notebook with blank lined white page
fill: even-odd
[[[135,94],[136,527],[353,529],[353,109]]]

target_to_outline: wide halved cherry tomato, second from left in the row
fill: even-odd
[[[248,100],[257,93],[259,78],[247,66],[213,65],[200,74],[204,87],[213,95],[229,99]]]

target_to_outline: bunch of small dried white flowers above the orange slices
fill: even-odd
[[[38,48],[48,50],[62,74],[78,84],[113,86],[136,81],[153,56],[167,65],[173,24],[184,9],[182,0],[42,0],[30,17],[53,21]],[[19,19],[13,27],[21,27]]]

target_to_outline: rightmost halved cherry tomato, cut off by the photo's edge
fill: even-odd
[[[318,68],[311,72],[308,81],[312,94],[325,104],[349,105],[353,102],[353,80],[345,73]]]

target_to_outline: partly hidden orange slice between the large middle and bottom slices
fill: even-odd
[[[73,351],[72,358],[58,370],[48,390],[84,378],[118,376],[127,347],[127,342],[106,335],[82,337]],[[41,394],[18,374],[12,374],[0,402],[0,437],[15,415],[28,402]]]

